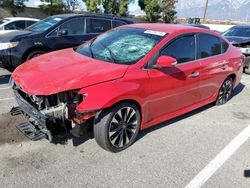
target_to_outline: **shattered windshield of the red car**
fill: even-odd
[[[94,59],[131,65],[143,58],[167,34],[140,28],[119,28],[100,35],[76,49]]]

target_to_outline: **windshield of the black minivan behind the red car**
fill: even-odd
[[[44,20],[41,20],[39,22],[36,22],[35,24],[29,26],[26,28],[28,31],[34,31],[34,32],[43,32],[47,29],[51,28],[52,26],[56,25],[58,22],[60,22],[63,18],[61,17],[48,17]]]

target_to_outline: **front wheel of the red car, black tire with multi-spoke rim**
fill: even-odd
[[[129,102],[119,103],[96,115],[95,140],[107,151],[120,152],[135,142],[140,126],[141,114],[138,107]]]

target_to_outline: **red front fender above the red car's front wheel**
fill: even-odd
[[[79,112],[108,108],[122,100],[134,100],[143,104],[142,85],[137,82],[113,80],[81,89],[78,93],[86,97],[76,110]]]

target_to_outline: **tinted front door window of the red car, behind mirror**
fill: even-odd
[[[176,39],[162,50],[160,55],[171,56],[177,60],[178,64],[181,64],[194,61],[196,59],[195,51],[195,37],[191,35]]]

